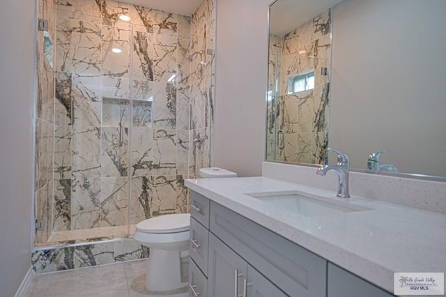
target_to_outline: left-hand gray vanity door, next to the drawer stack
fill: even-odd
[[[247,263],[213,234],[209,234],[208,296],[243,296]]]

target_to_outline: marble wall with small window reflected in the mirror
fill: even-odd
[[[283,36],[270,34],[267,160],[327,161],[331,10]],[[314,89],[291,92],[289,79],[314,71]]]

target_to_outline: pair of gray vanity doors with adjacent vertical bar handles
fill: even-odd
[[[213,234],[209,249],[208,296],[287,296]]]

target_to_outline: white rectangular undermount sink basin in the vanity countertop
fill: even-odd
[[[326,201],[328,198],[308,195],[299,191],[257,192],[245,193],[245,195],[306,217],[369,210],[369,208],[350,205],[345,201]]]

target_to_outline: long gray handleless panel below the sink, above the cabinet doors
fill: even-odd
[[[213,201],[210,231],[287,295],[325,296],[325,259]]]

